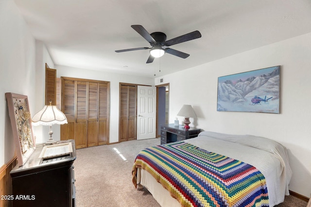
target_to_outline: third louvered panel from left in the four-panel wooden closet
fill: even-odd
[[[88,83],[87,147],[97,146],[98,84]]]

